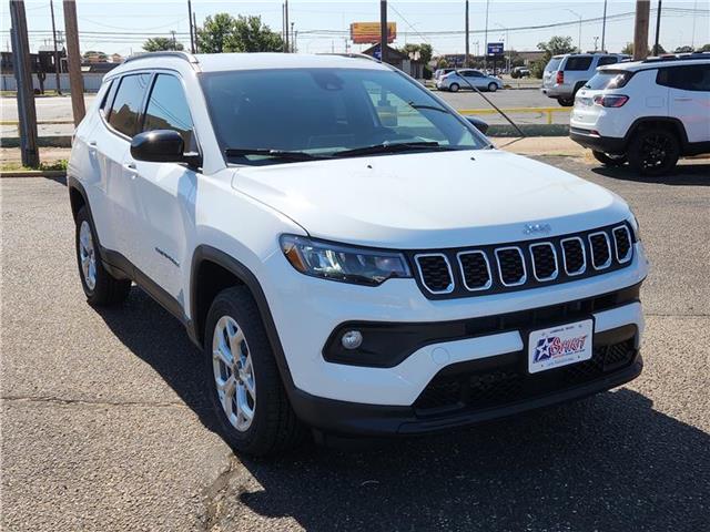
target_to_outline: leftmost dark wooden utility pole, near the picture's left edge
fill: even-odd
[[[14,79],[18,83],[18,114],[20,119],[20,154],[22,165],[36,168],[40,165],[40,153],[37,150],[37,110],[34,109],[34,91],[32,71],[30,70],[30,42],[27,37],[27,17],[24,2],[10,0],[10,20],[12,28],[12,62]]]

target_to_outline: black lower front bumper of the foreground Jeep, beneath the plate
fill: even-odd
[[[450,430],[609,390],[638,377],[642,359],[635,326],[595,335],[591,360],[525,375],[525,352],[447,368],[410,407],[324,399],[297,391],[292,403],[303,421],[327,433],[415,436]],[[609,364],[607,364],[607,361]],[[509,375],[506,382],[497,376]]]

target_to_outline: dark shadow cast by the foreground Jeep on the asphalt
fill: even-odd
[[[100,313],[214,431],[201,354],[182,326],[138,288],[124,307]],[[230,515],[245,519],[243,507],[328,531],[708,525],[710,436],[630,389],[366,452],[305,446],[268,461],[241,459],[262,489],[230,488],[216,516],[224,530],[239,525]]]

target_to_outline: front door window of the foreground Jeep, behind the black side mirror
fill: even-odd
[[[194,151],[193,125],[185,91],[178,78],[159,74],[145,110],[143,131],[173,130],[180,133],[185,150]]]

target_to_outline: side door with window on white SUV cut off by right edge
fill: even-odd
[[[659,69],[657,83],[669,88],[668,114],[682,122],[688,142],[710,142],[710,64]]]

